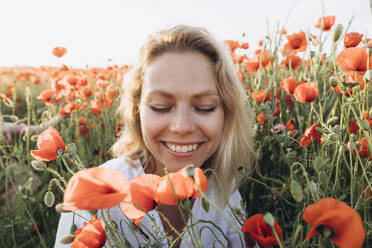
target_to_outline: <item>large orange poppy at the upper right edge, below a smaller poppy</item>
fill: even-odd
[[[336,58],[336,63],[346,71],[367,71],[368,54],[364,47],[346,48]],[[372,68],[372,55],[369,57],[369,69]]]

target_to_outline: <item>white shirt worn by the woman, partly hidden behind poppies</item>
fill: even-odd
[[[137,163],[137,167],[131,167],[125,162],[124,157],[109,160],[100,167],[111,168],[120,171],[128,180],[144,174],[144,170],[139,163]],[[217,189],[218,186],[216,185],[214,180],[208,179],[208,190],[206,192],[206,195],[210,199],[210,201],[215,203],[216,205],[218,205],[216,203],[217,195],[221,194],[221,192]],[[229,204],[232,208],[238,207],[241,210],[241,196],[239,191],[230,193],[227,197],[229,198]],[[221,209],[221,211],[235,228],[232,227],[212,205],[210,205],[209,211],[206,212],[202,208],[201,197],[196,198],[192,207],[192,216],[194,218],[189,218],[188,226],[191,224],[191,221],[195,222],[196,220],[206,220],[208,222],[201,222],[197,225],[194,225],[194,232],[191,232],[191,235],[193,235],[194,233],[196,237],[198,237],[197,240],[201,240],[201,244],[203,247],[228,247],[229,243],[233,248],[245,247],[244,237],[240,233],[241,225],[232,215],[230,208],[226,205]],[[88,211],[76,211],[76,213],[77,214],[75,214],[74,222],[77,228],[83,227],[83,223],[88,222],[92,217]],[[169,247],[167,239],[162,235],[165,232],[161,219],[159,217],[159,213],[156,210],[148,212],[148,215],[145,215],[140,223],[141,230],[143,230],[143,232],[150,237],[150,239],[148,239],[147,241],[139,232],[132,231],[134,227],[132,221],[124,216],[119,206],[110,208],[109,213],[111,219],[117,224],[119,233],[123,233],[122,237],[125,237],[133,245],[133,247]],[[70,227],[73,221],[72,215],[72,213],[61,214],[54,247],[70,247],[71,244],[63,245],[59,242],[59,240],[65,235],[69,234]],[[86,219],[79,217],[78,215],[81,215]],[[103,210],[98,211],[99,218],[105,218],[103,217],[105,215],[106,214]],[[214,224],[209,223],[209,221]],[[156,226],[154,225],[154,222],[156,223]],[[229,242],[226,239],[228,239]],[[196,239],[194,238],[193,240]],[[218,240],[220,240],[221,243]],[[106,241],[106,246],[110,247],[109,241]],[[188,232],[183,235],[180,247],[193,247]]]

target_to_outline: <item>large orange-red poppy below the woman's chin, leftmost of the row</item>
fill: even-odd
[[[80,170],[69,180],[63,209],[94,210],[118,205],[128,194],[128,180],[120,172],[102,167]]]

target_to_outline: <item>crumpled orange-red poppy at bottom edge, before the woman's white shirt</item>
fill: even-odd
[[[75,231],[75,239],[71,248],[100,248],[106,243],[105,223],[93,216],[89,223]]]

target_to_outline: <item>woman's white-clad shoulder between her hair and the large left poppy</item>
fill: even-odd
[[[129,165],[125,161],[125,156],[111,159],[99,167],[110,168],[121,172],[128,180],[135,178],[136,176],[144,174],[144,170],[139,160],[134,161],[135,166]]]

